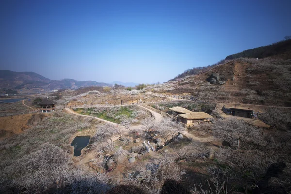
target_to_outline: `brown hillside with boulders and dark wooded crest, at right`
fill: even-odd
[[[230,55],[223,64],[203,68],[194,75],[173,79],[153,89],[205,102],[291,107],[290,75],[291,40],[286,40]]]

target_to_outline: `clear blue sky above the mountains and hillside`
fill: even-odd
[[[291,35],[291,0],[0,0],[0,70],[164,82]]]

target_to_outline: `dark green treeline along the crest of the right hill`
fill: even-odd
[[[286,36],[287,37],[287,36]],[[285,52],[291,52],[291,39],[285,38],[285,41],[273,43],[271,45],[257,47],[254,49],[244,50],[242,52],[227,56],[226,60],[238,59],[238,58],[265,58],[273,55],[282,54]]]

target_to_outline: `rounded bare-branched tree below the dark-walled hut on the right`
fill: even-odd
[[[234,118],[215,122],[213,133],[228,142],[230,146],[234,146],[237,143],[237,150],[239,150],[241,141],[256,142],[261,139],[257,129],[246,124],[243,120]]]

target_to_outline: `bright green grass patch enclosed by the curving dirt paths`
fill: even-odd
[[[113,123],[121,123],[121,119],[120,116],[125,116],[128,118],[134,118],[132,113],[132,107],[120,107],[119,109],[105,109],[105,110],[101,110],[101,111],[96,111],[95,108],[77,108],[74,109],[74,111],[76,111],[79,114],[83,114],[83,115],[89,115],[89,116],[95,116],[97,118],[101,118],[107,121],[111,121]],[[110,113],[109,115],[112,116],[108,116],[108,113]],[[113,117],[114,116],[114,117]]]

